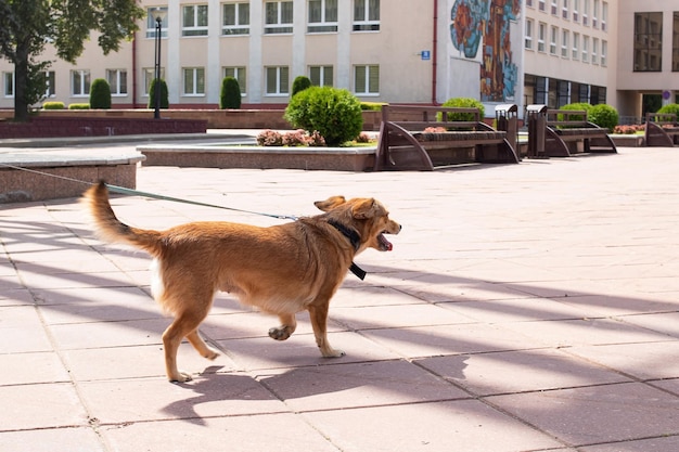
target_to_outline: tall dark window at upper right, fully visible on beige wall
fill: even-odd
[[[663,67],[663,13],[635,13],[635,70]]]

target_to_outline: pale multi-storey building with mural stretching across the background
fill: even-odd
[[[679,92],[679,0],[141,0],[148,18],[118,52],[93,36],[75,65],[53,61],[46,101],[88,102],[93,79],[114,107],[145,107],[161,76],[174,108],[214,108],[226,76],[243,107],[278,107],[292,82],[345,88],[362,101],[487,105],[608,103],[640,116],[644,95]],[[635,30],[633,33],[631,33]],[[644,43],[645,42],[645,43]],[[663,46],[664,44],[664,46]],[[644,47],[645,46],[645,47]],[[0,61],[0,108],[13,107]]]

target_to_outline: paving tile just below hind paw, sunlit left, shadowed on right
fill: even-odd
[[[85,382],[81,397],[102,424],[285,412],[285,405],[245,374],[210,374],[185,384],[165,377]]]

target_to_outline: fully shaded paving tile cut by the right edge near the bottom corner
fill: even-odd
[[[679,398],[640,383],[487,400],[573,445],[679,435]]]

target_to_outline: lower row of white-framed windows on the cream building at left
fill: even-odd
[[[143,74],[143,95],[149,95],[151,82],[155,78],[153,68],[142,69]],[[245,67],[223,67],[223,77],[234,77],[239,81],[241,93],[247,94],[247,72]],[[54,72],[46,73],[47,92],[46,98],[54,96],[56,87],[56,76]],[[164,78],[165,72],[161,70]],[[309,78],[315,86],[333,86],[333,66],[309,66]],[[4,96],[14,96],[14,73],[3,73]],[[127,70],[106,69],[106,80],[111,86],[113,96],[127,95]],[[76,69],[71,72],[71,95],[74,98],[88,96],[90,94],[91,75],[88,69]],[[205,95],[205,68],[184,67],[182,68],[182,95],[202,96]],[[290,93],[290,67],[268,66],[265,67],[265,92],[267,95],[287,95]],[[379,65],[356,65],[354,66],[354,93],[357,95],[379,95],[380,94],[380,66]]]

